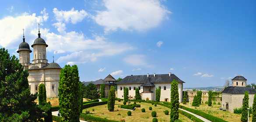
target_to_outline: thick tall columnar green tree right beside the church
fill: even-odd
[[[80,81],[77,65],[65,65],[60,71],[59,107],[62,122],[80,122]]]

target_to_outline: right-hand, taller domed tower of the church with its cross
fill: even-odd
[[[48,47],[48,45],[46,45],[46,41],[40,36],[39,25],[40,24],[38,24],[38,38],[35,39],[34,44],[31,45],[31,47],[34,50],[34,59],[32,60],[32,63],[41,68],[48,64],[48,60],[46,59],[46,47]]]

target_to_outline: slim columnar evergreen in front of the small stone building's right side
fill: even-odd
[[[248,110],[247,108],[249,108],[249,94],[248,91],[245,91],[245,96],[244,96],[244,103],[242,105],[242,117],[241,117],[241,121],[242,122],[247,122],[247,116],[248,116]]]

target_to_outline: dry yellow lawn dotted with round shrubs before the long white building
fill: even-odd
[[[128,116],[127,112],[128,110],[123,110],[121,108],[118,108],[118,105],[123,105],[123,101],[116,101],[114,112],[109,112],[107,105],[99,105],[91,108],[87,108],[88,110],[94,109],[94,112],[90,112],[90,115],[100,118],[106,118],[111,120],[120,121],[121,119],[125,119],[126,122],[151,122],[153,117],[151,116],[151,112],[155,111],[157,112],[157,119],[158,122],[170,122],[170,115],[165,115],[164,111],[168,110],[169,108],[166,108],[164,106],[158,105],[154,106],[150,103],[140,103],[141,107],[136,108],[135,111],[131,111],[132,115]],[[148,108],[152,107],[152,110],[150,111]],[[141,112],[141,109],[145,108],[146,112]],[[104,112],[104,115],[102,114]],[[83,110],[83,113],[85,113],[85,109]],[[120,115],[117,115],[120,114]],[[188,119],[186,116],[179,114],[179,119],[182,122],[193,122],[190,119]]]

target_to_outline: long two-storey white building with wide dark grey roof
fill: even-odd
[[[126,76],[123,80],[117,82],[117,98],[123,99],[123,89],[128,87],[129,96],[135,98],[135,90],[139,89],[141,99],[155,101],[156,88],[161,88],[160,101],[170,101],[171,98],[171,84],[173,80],[178,81],[179,88],[179,102],[182,102],[183,82],[175,74],[153,74],[153,75],[137,75]]]

